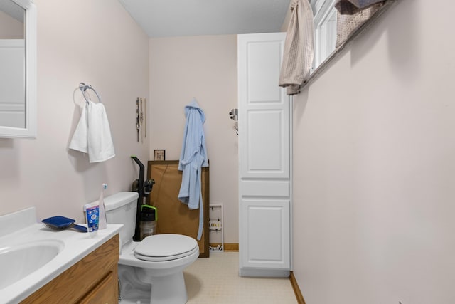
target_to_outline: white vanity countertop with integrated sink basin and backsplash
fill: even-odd
[[[55,231],[37,221],[35,207],[0,215],[0,304],[25,300],[121,228],[108,224],[95,235],[73,229]]]

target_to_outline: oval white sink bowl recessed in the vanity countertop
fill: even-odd
[[[0,248],[0,290],[45,266],[65,247],[60,240],[41,240]]]

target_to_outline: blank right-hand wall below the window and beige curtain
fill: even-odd
[[[455,303],[453,1],[400,0],[294,98],[306,303]]]

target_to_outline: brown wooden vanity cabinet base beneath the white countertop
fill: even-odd
[[[21,303],[118,303],[116,234]]]

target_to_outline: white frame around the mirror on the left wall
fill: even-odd
[[[31,0],[10,0],[25,10],[26,127],[0,126],[0,137],[36,138],[36,5]]]

